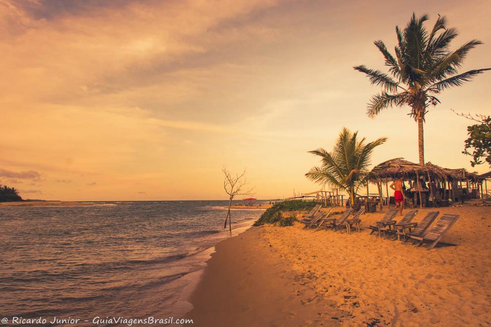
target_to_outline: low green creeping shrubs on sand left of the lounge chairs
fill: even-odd
[[[254,226],[261,226],[265,223],[278,224],[282,227],[291,226],[297,220],[295,217],[282,217],[282,212],[289,211],[308,211],[316,205],[313,201],[288,200],[279,202],[267,209],[259,219],[254,222]]]

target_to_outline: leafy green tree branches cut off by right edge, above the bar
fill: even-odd
[[[482,158],[491,165],[491,117],[478,115],[480,123],[467,127],[469,138],[465,140],[463,154],[473,157],[471,165],[482,164]],[[474,119],[476,120],[476,119]],[[469,152],[472,149],[472,153]]]

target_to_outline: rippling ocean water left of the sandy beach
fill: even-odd
[[[227,201],[93,204],[0,208],[2,317],[180,317],[213,246],[231,236]],[[233,234],[262,212],[233,210]]]

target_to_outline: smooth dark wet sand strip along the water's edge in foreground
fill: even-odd
[[[256,242],[263,227],[220,241],[189,296],[184,318],[197,326],[301,326],[319,322],[316,295]],[[262,241],[265,241],[262,239]],[[288,305],[290,304],[290,305]],[[292,305],[293,304],[293,305]],[[340,316],[331,306],[323,314]],[[312,319],[313,317],[313,319]],[[331,319],[331,318],[329,318]],[[332,318],[334,321],[334,318]]]

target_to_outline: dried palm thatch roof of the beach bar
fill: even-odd
[[[470,173],[464,168],[443,168],[430,162],[422,165],[419,163],[409,162],[402,158],[388,160],[386,162],[377,164],[370,171],[367,179],[370,182],[379,182],[387,181],[396,177],[414,179],[417,176],[424,176],[425,178],[427,178],[428,174],[430,174],[432,180],[439,179],[450,181],[464,181],[478,179],[477,174]]]

